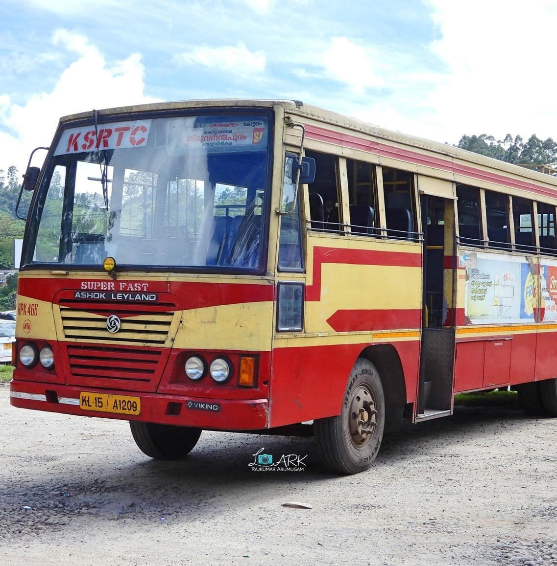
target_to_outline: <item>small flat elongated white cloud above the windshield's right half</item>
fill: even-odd
[[[253,78],[254,74],[257,76],[265,70],[265,53],[252,53],[241,41],[236,46],[196,47],[189,53],[175,55],[175,61],[182,65],[203,65],[239,78]]]

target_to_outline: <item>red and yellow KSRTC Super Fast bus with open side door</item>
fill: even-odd
[[[457,393],[557,416],[551,174],[288,100],[92,110],[45,149],[12,405],[125,419],[161,459],[313,435],[338,474]]]

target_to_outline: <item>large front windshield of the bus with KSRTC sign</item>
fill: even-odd
[[[260,269],[269,117],[95,121],[61,132],[25,264]]]

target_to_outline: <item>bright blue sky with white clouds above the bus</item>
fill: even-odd
[[[556,16],[554,0],[0,0],[0,170],[23,173],[63,115],[201,98],[301,100],[450,144],[555,139]]]

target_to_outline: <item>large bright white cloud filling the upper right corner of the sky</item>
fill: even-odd
[[[554,52],[557,6],[550,0],[466,3],[428,0],[442,37],[432,44],[449,73],[429,99],[437,130],[557,135]],[[433,125],[433,123],[432,123]],[[458,141],[456,139],[455,141]]]

